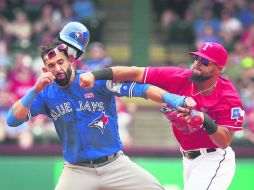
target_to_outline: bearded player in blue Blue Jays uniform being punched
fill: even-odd
[[[88,31],[81,31],[83,44]],[[75,36],[74,36],[75,37]],[[63,146],[64,168],[56,190],[159,190],[163,187],[122,152],[118,134],[115,96],[142,97],[173,107],[192,108],[195,101],[149,84],[97,81],[84,90],[74,70],[77,54],[62,42],[41,48],[44,73],[34,87],[10,108],[7,123],[18,126],[44,114],[52,119]],[[70,54],[72,56],[69,56]]]

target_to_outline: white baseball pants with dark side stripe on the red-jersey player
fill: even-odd
[[[226,190],[235,174],[235,153],[231,147],[183,158],[184,190]]]

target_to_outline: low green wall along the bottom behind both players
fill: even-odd
[[[182,189],[181,159],[132,158],[150,171],[165,187]],[[53,190],[61,173],[61,157],[0,157],[1,190]],[[236,174],[229,190],[252,190],[254,159],[237,159]]]

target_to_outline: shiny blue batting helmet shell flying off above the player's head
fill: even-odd
[[[85,52],[90,39],[90,33],[83,24],[79,22],[69,22],[60,31],[59,38],[61,41]]]

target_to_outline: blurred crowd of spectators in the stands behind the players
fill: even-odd
[[[6,125],[10,105],[31,88],[42,72],[37,48],[55,39],[69,21],[84,23],[91,33],[87,60],[77,69],[97,70],[112,65],[103,45],[105,13],[99,0],[0,0],[0,142],[29,148],[35,143],[58,143],[51,121],[36,117],[18,128]],[[222,43],[229,51],[229,76],[245,109],[243,136],[254,144],[254,1],[253,0],[154,0],[161,44],[187,44],[197,48],[203,41]],[[102,43],[101,43],[102,42]],[[117,99],[120,135],[126,146],[132,138],[128,126],[135,108]]]

